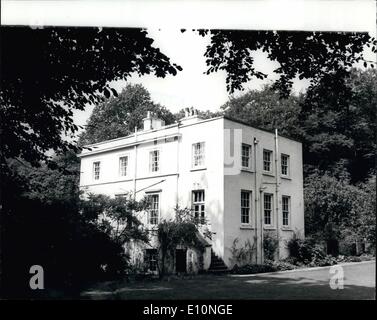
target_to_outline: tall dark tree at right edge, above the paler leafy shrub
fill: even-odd
[[[304,162],[330,169],[342,161],[353,183],[375,172],[376,104],[374,69],[352,69],[337,92],[325,85],[308,92],[300,115]]]

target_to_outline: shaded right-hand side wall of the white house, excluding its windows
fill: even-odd
[[[252,170],[240,171],[235,175],[225,175],[225,254],[224,261],[228,266],[232,265],[231,247],[235,238],[239,239],[238,247],[243,246],[247,240],[254,243],[254,236],[257,232],[258,243],[255,245],[258,249],[258,256],[261,251],[261,202],[263,201],[263,193],[260,193],[260,187],[264,187],[264,193],[273,194],[273,223],[272,227],[264,226],[263,231],[277,233],[277,218],[275,212],[276,198],[275,198],[275,164],[274,164],[274,152],[275,152],[275,140],[274,134],[251,128],[249,126],[233,122],[225,119],[225,129],[241,129],[242,130],[242,143],[247,143],[252,146]],[[257,145],[254,145],[254,137],[259,141]],[[280,154],[284,153],[290,156],[290,177],[289,179],[280,179],[279,188],[279,237],[280,241],[280,257],[287,256],[287,250],[285,246],[286,240],[292,237],[293,231],[297,230],[303,233],[304,231],[304,206],[303,206],[303,177],[302,177],[302,146],[301,143],[289,140],[283,137],[279,137],[279,176],[280,176]],[[225,142],[224,142],[225,143]],[[241,148],[241,143],[236,142],[236,147]],[[254,148],[256,147],[257,156],[257,174],[255,174],[255,159]],[[263,149],[273,151],[272,157],[272,175],[263,174]],[[240,163],[238,164],[240,167]],[[257,189],[255,188],[255,179],[257,179]],[[251,224],[250,226],[241,225],[241,190],[252,191],[252,204],[251,204]],[[282,228],[282,208],[281,208],[281,196],[287,195],[291,197],[291,221],[289,228]],[[260,199],[260,197],[262,198]],[[255,199],[257,203],[255,204]],[[257,228],[255,228],[255,217],[257,218]],[[254,262],[254,261],[253,261]]]

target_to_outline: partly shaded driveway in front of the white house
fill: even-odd
[[[375,299],[376,262],[342,266],[343,289],[331,289],[331,267],[257,275],[198,275],[170,281],[146,281],[96,287],[84,299],[182,300],[182,299]],[[337,269],[336,274],[339,270]],[[335,275],[336,276],[336,275]],[[333,281],[339,284],[338,281]]]

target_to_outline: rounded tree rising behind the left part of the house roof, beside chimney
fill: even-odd
[[[107,99],[94,107],[80,136],[80,145],[92,144],[133,133],[142,127],[147,111],[155,112],[166,124],[174,122],[173,114],[152,102],[149,92],[140,84],[128,84],[118,97]]]

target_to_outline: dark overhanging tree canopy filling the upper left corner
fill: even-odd
[[[0,37],[2,163],[75,150],[63,139],[78,129],[73,110],[116,95],[110,81],[181,70],[141,29],[2,27]]]

